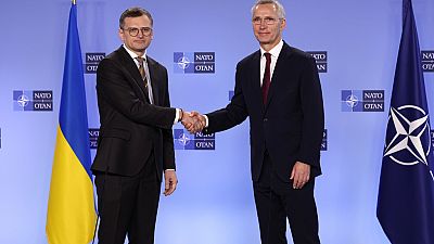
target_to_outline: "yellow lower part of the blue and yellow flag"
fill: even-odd
[[[92,181],[58,126],[47,214],[48,242],[88,244],[95,221]]]

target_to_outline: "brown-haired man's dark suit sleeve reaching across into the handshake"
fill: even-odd
[[[97,91],[111,106],[132,121],[170,129],[176,110],[152,105],[139,99],[128,76],[119,64],[105,59],[97,69]],[[137,87],[136,91],[139,89]]]

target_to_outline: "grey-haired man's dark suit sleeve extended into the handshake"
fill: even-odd
[[[204,130],[205,133],[227,130],[245,120],[248,114],[241,81],[242,68],[241,65],[238,64],[235,73],[235,89],[231,102],[225,108],[206,114],[208,117],[208,127]]]

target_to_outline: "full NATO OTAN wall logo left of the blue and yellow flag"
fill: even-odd
[[[53,91],[13,91],[14,111],[53,111]]]

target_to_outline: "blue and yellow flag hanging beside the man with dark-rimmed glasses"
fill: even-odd
[[[50,244],[88,244],[91,241],[97,215],[90,164],[77,5],[73,3],[47,213],[46,231]]]

